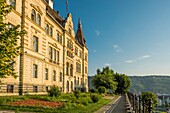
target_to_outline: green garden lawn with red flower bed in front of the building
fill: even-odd
[[[110,99],[105,97],[90,93],[81,93],[79,98],[74,94],[61,94],[59,97],[38,95],[0,97],[0,109],[16,112],[93,113],[110,102]]]

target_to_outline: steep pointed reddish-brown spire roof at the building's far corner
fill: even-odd
[[[81,24],[80,19],[78,20],[78,29],[76,32],[76,40],[82,47],[86,46],[86,40],[84,39],[84,34],[83,34],[82,24]]]

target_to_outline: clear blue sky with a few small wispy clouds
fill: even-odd
[[[170,0],[68,0],[81,19],[89,76],[109,66],[126,75],[170,75]],[[54,0],[66,17],[66,0]]]

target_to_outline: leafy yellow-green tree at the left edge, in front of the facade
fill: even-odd
[[[14,71],[15,59],[20,53],[18,40],[25,31],[20,31],[20,26],[9,26],[5,23],[5,18],[12,10],[12,6],[7,5],[5,0],[0,2],[0,78],[7,76],[17,77]]]

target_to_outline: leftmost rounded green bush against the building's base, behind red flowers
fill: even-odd
[[[48,92],[48,95],[49,95],[50,97],[60,96],[60,95],[61,95],[61,92],[60,92],[58,86],[52,86],[52,87],[50,88],[49,92]]]

